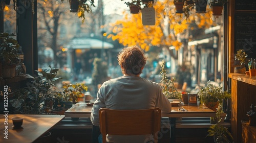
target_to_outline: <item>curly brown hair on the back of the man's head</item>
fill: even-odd
[[[143,50],[136,45],[125,47],[118,54],[118,64],[122,67],[122,73],[130,76],[142,73],[146,59]]]

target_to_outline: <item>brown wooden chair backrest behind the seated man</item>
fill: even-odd
[[[152,134],[157,142],[160,130],[161,109],[142,110],[99,110],[99,126],[102,142],[106,142],[106,134],[110,135],[145,135]]]

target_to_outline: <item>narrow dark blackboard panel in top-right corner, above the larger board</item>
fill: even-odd
[[[256,0],[236,0],[236,10],[256,10]]]

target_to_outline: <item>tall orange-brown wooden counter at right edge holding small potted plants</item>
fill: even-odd
[[[241,121],[249,121],[246,113],[250,104],[256,105],[256,77],[236,73],[228,77],[231,79],[231,134],[235,142],[242,142]]]

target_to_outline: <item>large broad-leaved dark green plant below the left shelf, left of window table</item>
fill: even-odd
[[[48,107],[44,105],[46,99],[52,98],[57,89],[55,81],[61,79],[56,78],[57,68],[45,68],[42,71],[36,70],[37,77],[34,77],[32,83],[28,83],[27,87],[16,90],[15,96],[10,100],[11,105],[17,113],[21,114],[41,114],[48,112]]]

